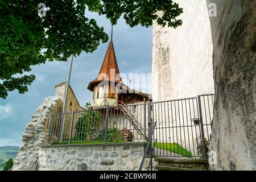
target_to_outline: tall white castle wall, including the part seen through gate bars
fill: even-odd
[[[176,2],[184,11],[179,17],[183,20],[183,24],[176,29],[158,26],[156,22],[153,25],[153,102],[214,93],[213,44],[207,2],[205,0],[177,0]],[[199,118],[197,108],[195,116],[190,116],[185,113],[188,108],[185,108],[184,103],[181,106],[181,102],[179,102],[180,113],[177,108],[171,109],[170,103],[168,105],[168,108],[167,104],[165,108],[155,105],[155,110],[160,110],[160,114],[155,113],[158,127],[167,127],[167,130],[159,129],[157,131],[160,142],[179,143],[193,154],[197,154],[196,138],[200,137],[200,129],[199,126],[193,125],[191,122],[191,119]],[[174,103],[172,105],[174,106]],[[176,106],[178,106],[177,103]],[[212,120],[210,118],[210,115],[212,117],[212,104],[210,107],[210,112],[207,108],[206,115],[203,115],[208,119],[208,123]],[[169,112],[169,118],[167,114],[162,116],[161,111]],[[205,122],[205,119],[203,121]],[[192,127],[182,127],[187,125]],[[176,130],[176,126],[181,127]],[[209,140],[210,127],[208,129],[204,127],[204,133],[205,138]]]

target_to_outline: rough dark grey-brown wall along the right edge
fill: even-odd
[[[256,1],[213,1],[216,170],[256,170]]]

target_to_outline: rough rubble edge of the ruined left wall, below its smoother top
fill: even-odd
[[[56,97],[47,97],[36,109],[22,137],[22,146],[14,160],[13,170],[35,170],[41,145],[46,143],[47,124],[53,113],[60,113],[63,102]]]

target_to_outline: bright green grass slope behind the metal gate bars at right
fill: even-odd
[[[154,143],[152,142],[152,145],[153,144]],[[177,143],[159,143],[159,142],[156,142],[155,147],[163,149],[163,150],[167,150],[167,151],[170,151],[170,152],[174,152],[175,154],[179,154],[179,155],[182,155],[182,156],[192,157],[191,152],[189,152],[187,149],[181,147]]]

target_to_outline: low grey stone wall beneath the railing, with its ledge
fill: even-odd
[[[42,146],[37,170],[138,170],[146,142]],[[145,163],[146,166],[147,163]],[[145,168],[144,168],[145,169]]]

